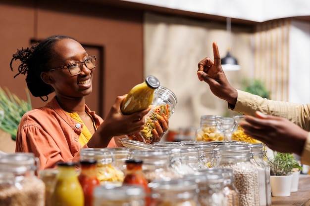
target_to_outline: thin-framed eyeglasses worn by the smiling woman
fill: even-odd
[[[53,70],[57,70],[57,69],[68,69],[70,75],[75,76],[75,75],[78,75],[81,73],[81,71],[83,69],[83,64],[85,64],[85,66],[88,69],[94,69],[96,67],[96,56],[90,56],[82,62],[80,62],[80,61],[73,62],[71,64],[68,64],[67,66],[64,66],[64,67],[49,69],[49,71],[53,71]]]

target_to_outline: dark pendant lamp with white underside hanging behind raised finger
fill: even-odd
[[[227,17],[226,29],[229,35],[229,42],[231,42],[231,18]],[[227,49],[227,54],[221,58],[222,69],[224,71],[237,71],[240,70],[240,65],[235,57],[230,54],[230,48]]]

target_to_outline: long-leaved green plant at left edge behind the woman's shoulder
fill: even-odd
[[[0,128],[16,139],[17,127],[22,116],[32,109],[29,91],[26,90],[28,102],[0,87]]]

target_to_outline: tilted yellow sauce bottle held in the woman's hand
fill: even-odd
[[[154,76],[148,76],[145,82],[135,85],[127,94],[121,104],[121,111],[124,115],[147,109],[153,101],[153,95],[159,81]]]

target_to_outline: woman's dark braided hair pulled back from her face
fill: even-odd
[[[46,72],[50,69],[49,64],[54,58],[53,47],[57,41],[62,39],[73,38],[61,35],[51,36],[32,45],[30,48],[17,49],[17,52],[13,54],[13,58],[10,62],[10,68],[13,71],[13,61],[17,59],[20,60],[21,64],[18,66],[18,73],[14,78],[19,74],[27,75],[26,82],[31,94],[35,97],[40,97],[43,101],[48,100],[48,95],[52,93],[54,89],[41,79],[41,72]],[[42,98],[44,96],[46,96],[45,100]]]

